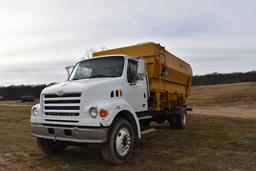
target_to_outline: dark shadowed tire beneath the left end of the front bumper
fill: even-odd
[[[37,138],[37,144],[40,150],[46,154],[60,153],[67,148],[67,144],[65,142],[53,141],[44,138]]]

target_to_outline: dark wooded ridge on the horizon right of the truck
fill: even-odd
[[[213,85],[240,82],[256,82],[256,71],[250,72],[234,72],[228,74],[212,73],[207,75],[193,76],[192,85]]]

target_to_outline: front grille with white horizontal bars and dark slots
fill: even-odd
[[[44,114],[50,117],[79,116],[81,93],[43,95]]]

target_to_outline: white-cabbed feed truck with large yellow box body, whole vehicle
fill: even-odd
[[[150,122],[186,127],[191,81],[190,65],[160,44],[95,52],[67,81],[41,92],[31,111],[32,135],[46,154],[97,143],[105,160],[124,163]]]

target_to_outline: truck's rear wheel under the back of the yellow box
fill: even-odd
[[[184,129],[187,126],[187,110],[182,107],[179,113],[175,113],[168,118],[169,125],[173,129]]]

